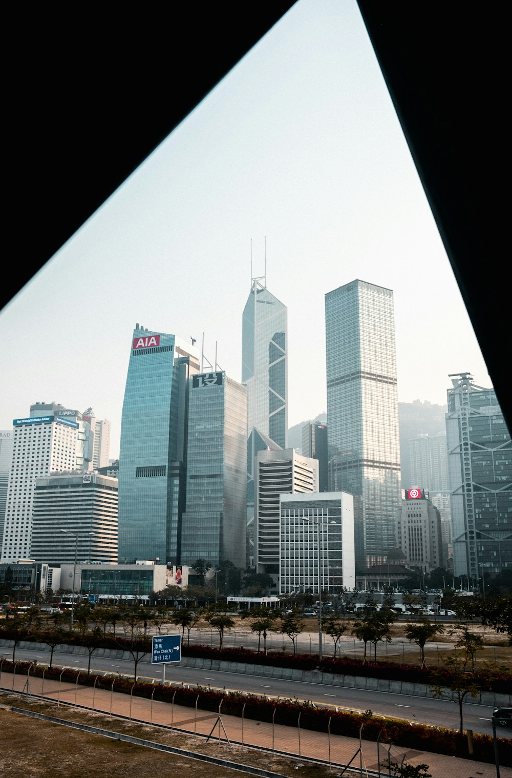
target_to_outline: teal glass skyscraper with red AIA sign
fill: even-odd
[[[176,335],[136,325],[121,416],[118,531],[122,563],[179,561],[188,380],[199,373],[199,359],[198,349]]]

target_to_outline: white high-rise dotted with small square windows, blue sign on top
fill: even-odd
[[[2,562],[29,557],[36,478],[74,470],[79,447],[79,425],[72,417],[58,413],[30,416],[14,419],[13,426]]]

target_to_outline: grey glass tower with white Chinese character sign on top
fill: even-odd
[[[180,561],[246,567],[247,389],[224,372],[189,381]]]

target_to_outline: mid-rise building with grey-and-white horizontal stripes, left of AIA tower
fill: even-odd
[[[30,557],[51,566],[117,562],[117,478],[73,471],[36,478]]]

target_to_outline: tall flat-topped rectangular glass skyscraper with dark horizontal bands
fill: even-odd
[[[329,491],[354,495],[356,567],[385,561],[400,506],[393,293],[356,280],[326,294]]]

